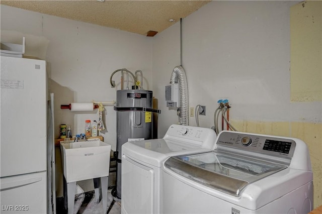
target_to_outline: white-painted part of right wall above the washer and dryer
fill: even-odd
[[[320,102],[290,102],[290,7],[298,1],[213,1],[182,21],[183,67],[189,105],[206,105],[201,127],[213,126],[217,100],[228,98],[240,121],[321,123]],[[180,23],[153,41],[153,91],[159,99],[159,137],[177,123],[164,86],[180,65]],[[195,117],[189,118],[195,126]]]

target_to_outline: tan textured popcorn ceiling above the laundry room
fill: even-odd
[[[1,1],[66,19],[147,35],[161,32],[211,1]],[[174,22],[169,20],[173,19]]]

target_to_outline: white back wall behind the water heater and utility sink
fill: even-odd
[[[120,72],[113,76],[117,87],[111,88],[113,71],[140,69],[144,89],[152,89],[151,38],[1,5],[1,41],[21,43],[22,36],[25,55],[47,61],[49,90],[55,93],[56,138],[60,124],[71,125],[76,134],[84,133],[85,120],[98,120],[97,111],[72,113],[61,110],[61,104],[116,100]],[[107,132],[102,135],[115,151],[116,112],[113,106],[105,109]]]

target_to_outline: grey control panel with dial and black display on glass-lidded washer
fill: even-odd
[[[296,143],[292,139],[240,132],[222,132],[217,145],[280,157],[293,157]]]

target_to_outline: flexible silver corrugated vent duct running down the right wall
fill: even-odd
[[[176,66],[172,73],[170,83],[179,83],[180,90],[180,108],[179,123],[184,126],[189,125],[189,109],[188,109],[188,84],[186,72],[182,66]]]

